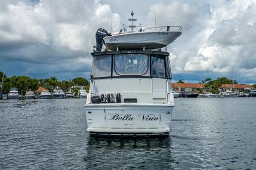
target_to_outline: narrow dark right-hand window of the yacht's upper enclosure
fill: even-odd
[[[151,57],[151,76],[154,78],[165,78],[164,57]]]

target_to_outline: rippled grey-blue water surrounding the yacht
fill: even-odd
[[[177,98],[170,138],[89,138],[85,100],[0,101],[0,169],[256,169],[256,98]]]

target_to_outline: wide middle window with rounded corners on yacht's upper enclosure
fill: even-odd
[[[115,72],[119,76],[149,76],[149,57],[146,54],[115,55]]]

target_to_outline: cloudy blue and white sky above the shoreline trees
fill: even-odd
[[[111,32],[111,23],[113,32],[120,30],[131,11],[143,27],[155,26],[155,18],[157,26],[182,26],[167,48],[174,81],[234,75],[240,83],[256,83],[256,0],[2,0],[0,70],[89,78],[95,32]]]

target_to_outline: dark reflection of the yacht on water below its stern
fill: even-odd
[[[171,138],[89,138],[87,146],[87,169],[170,169],[178,163],[171,155]]]

